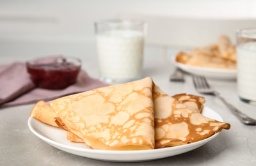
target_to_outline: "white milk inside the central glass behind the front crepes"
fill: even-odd
[[[114,82],[139,79],[143,63],[143,33],[115,30],[97,34],[100,74]]]

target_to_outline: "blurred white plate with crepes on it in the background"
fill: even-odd
[[[172,63],[185,72],[204,75],[212,79],[236,79],[236,45],[228,36],[221,35],[217,43],[172,57]]]

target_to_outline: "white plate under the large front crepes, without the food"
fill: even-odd
[[[214,110],[209,109],[208,107],[204,107],[202,114],[206,117],[223,121],[218,113],[214,112]],[[90,149],[83,143],[70,142],[67,140],[67,132],[65,130],[42,123],[33,117],[29,117],[28,126],[31,132],[33,132],[37,137],[44,140],[51,146],[61,149],[62,151],[66,151],[78,156],[84,156],[86,158],[93,158],[95,160],[104,160],[109,162],[142,162],[179,155],[204,145],[220,134],[216,133],[207,139],[191,144],[176,147],[166,147],[163,149],[142,151],[106,151]]]

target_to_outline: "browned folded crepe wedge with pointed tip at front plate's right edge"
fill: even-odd
[[[155,148],[180,146],[210,137],[230,124],[216,121],[190,109],[154,87]]]

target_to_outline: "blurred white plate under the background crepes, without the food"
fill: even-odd
[[[172,57],[172,63],[184,70],[185,72],[194,74],[194,75],[204,75],[207,78],[212,79],[236,79],[237,70],[225,70],[225,69],[214,69],[214,68],[204,68],[191,66],[184,63],[179,63],[175,61],[176,56]]]

